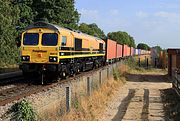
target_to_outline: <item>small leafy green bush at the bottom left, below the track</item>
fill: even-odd
[[[26,100],[16,103],[11,107],[11,112],[14,112],[13,120],[16,121],[36,121],[36,114]]]

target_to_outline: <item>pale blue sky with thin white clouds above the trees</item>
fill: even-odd
[[[76,0],[80,23],[106,34],[126,31],[136,44],[180,48],[180,0]]]

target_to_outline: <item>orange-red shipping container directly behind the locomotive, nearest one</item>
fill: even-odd
[[[110,40],[108,39],[107,40],[107,55],[106,55],[106,59],[107,61],[112,61],[113,59],[116,58],[116,45],[117,42],[116,41],[113,41],[113,40]]]

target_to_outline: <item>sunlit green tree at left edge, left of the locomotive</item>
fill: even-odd
[[[17,62],[18,49],[15,46],[19,9],[10,0],[0,0],[0,67]]]

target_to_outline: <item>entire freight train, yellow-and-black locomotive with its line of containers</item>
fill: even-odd
[[[66,78],[121,58],[150,53],[46,22],[29,25],[20,46],[24,77],[39,76],[42,84],[45,79]]]

